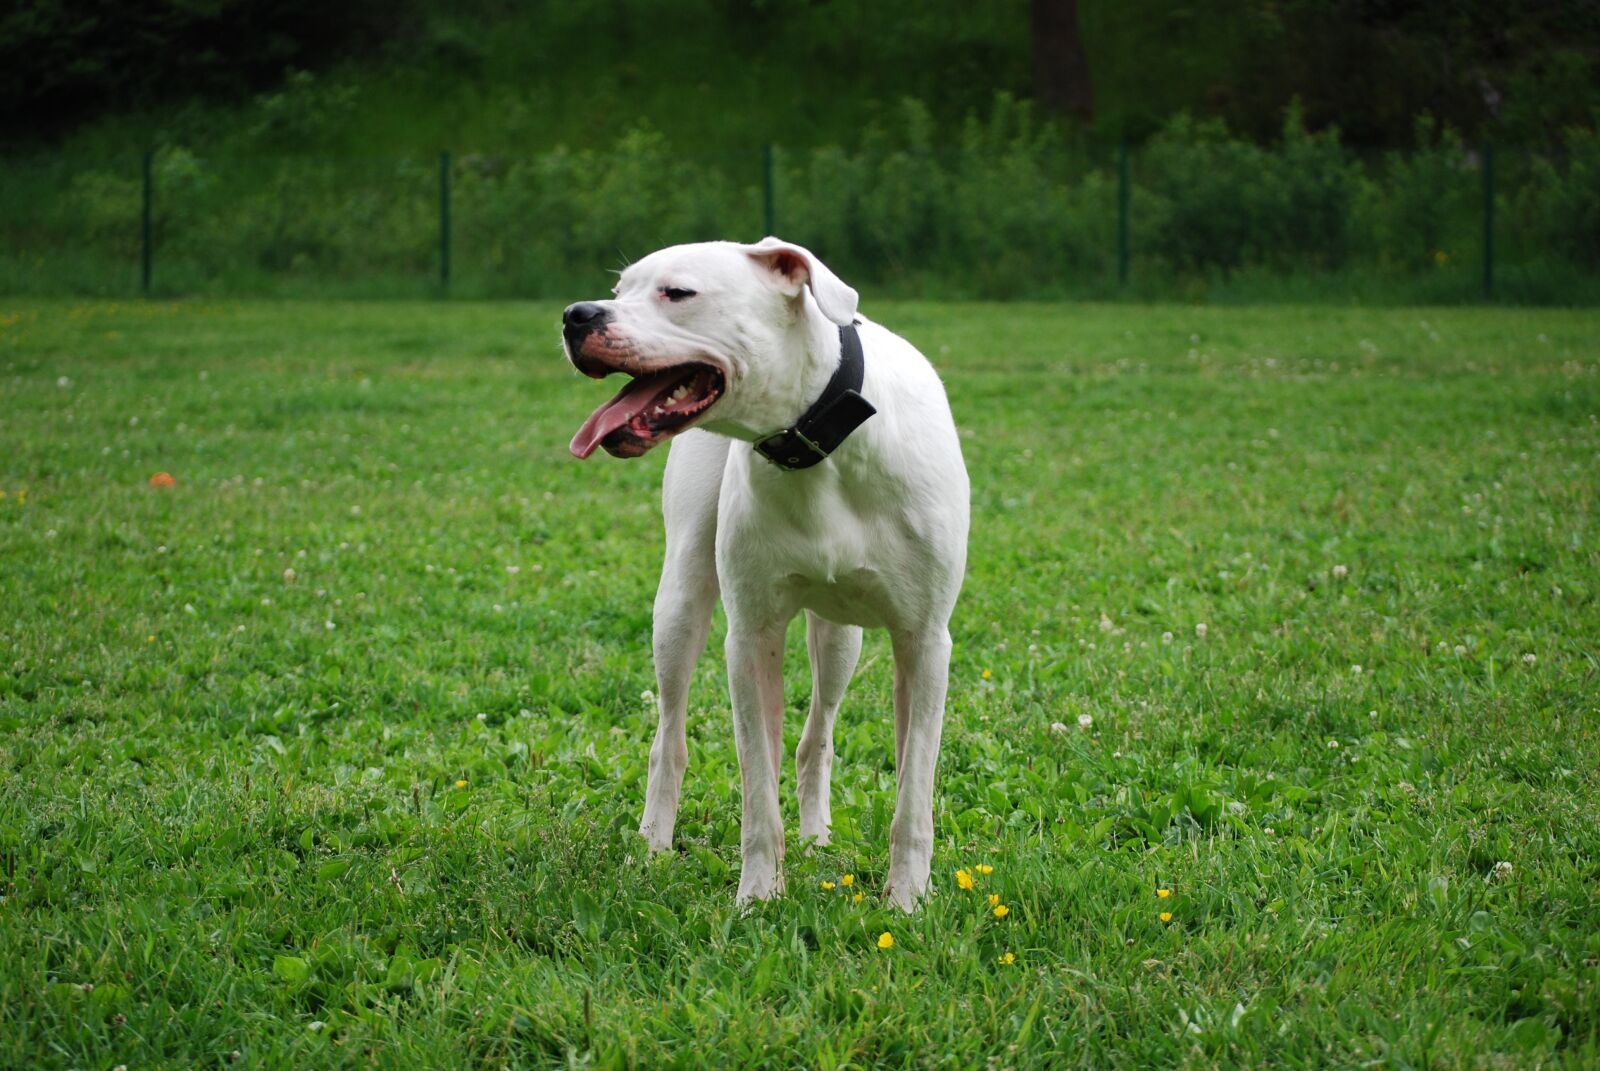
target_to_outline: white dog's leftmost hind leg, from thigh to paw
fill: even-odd
[[[650,748],[645,816],[638,823],[651,852],[672,845],[672,828],[678,818],[678,796],[688,765],[685,724],[690,679],[706,650],[706,634],[717,607],[717,496],[726,459],[726,439],[685,432],[672,443],[661,487],[667,554],[651,628],[661,720],[656,743]]]

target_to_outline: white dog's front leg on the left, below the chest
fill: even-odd
[[[728,621],[728,692],[733,743],[744,789],[739,903],[784,890],[784,820],[778,808],[782,754],[784,629],[746,629]],[[776,736],[776,738],[774,738]]]

